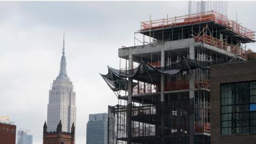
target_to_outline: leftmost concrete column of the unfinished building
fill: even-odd
[[[133,69],[133,61],[132,61],[132,47],[129,49],[129,65],[128,69]],[[132,143],[132,78],[128,78],[128,100],[127,100],[127,122],[126,122],[126,130],[127,130],[127,144]]]

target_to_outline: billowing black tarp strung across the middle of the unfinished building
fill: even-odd
[[[209,69],[210,67],[199,65],[197,61],[191,59],[181,60],[165,67],[151,66],[142,62],[137,68],[131,70],[119,70],[108,66],[108,74],[100,75],[106,81],[111,90],[118,91],[127,90],[128,85],[125,78],[133,78],[146,83],[159,83],[159,76],[161,74],[173,76],[181,73],[182,71],[196,68]],[[137,83],[133,83],[133,86],[135,85],[137,85]]]

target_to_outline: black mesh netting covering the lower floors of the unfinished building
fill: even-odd
[[[165,143],[188,143],[188,113],[192,106],[188,100],[179,99],[177,102],[159,102],[154,105],[132,106],[132,142],[133,143],[159,143],[164,137]],[[126,143],[127,131],[126,116],[129,107],[115,106],[110,108],[114,114],[116,137],[112,141]],[[164,132],[161,132],[161,118],[165,119]],[[124,129],[122,129],[122,127]]]

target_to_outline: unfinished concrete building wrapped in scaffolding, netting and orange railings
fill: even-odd
[[[139,39],[135,34],[142,34]],[[141,22],[101,75],[118,98],[108,143],[210,143],[210,65],[250,59],[254,32],[215,11]]]

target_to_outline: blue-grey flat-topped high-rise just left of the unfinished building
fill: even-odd
[[[86,129],[86,144],[108,143],[108,114],[90,114]]]

